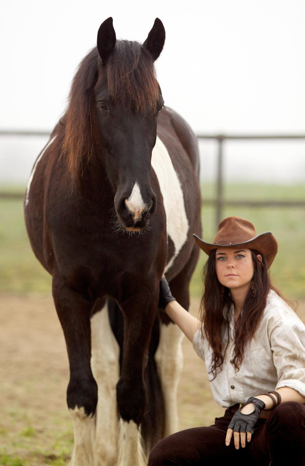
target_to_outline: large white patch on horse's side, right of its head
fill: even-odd
[[[183,191],[169,153],[159,137],[152,151],[151,166],[158,178],[163,205],[166,214],[167,234],[175,246],[175,254],[165,267],[165,272],[172,266],[176,256],[187,240],[189,222],[185,212]]]

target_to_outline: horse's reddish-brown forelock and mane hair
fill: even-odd
[[[94,86],[98,78],[98,51],[94,48],[82,60],[72,82],[65,136],[61,154],[67,157],[72,178],[93,154]],[[125,109],[146,113],[155,111],[159,96],[154,61],[139,42],[116,41],[107,62],[109,94]]]

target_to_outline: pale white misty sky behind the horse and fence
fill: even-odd
[[[113,17],[118,39],[166,30],[156,73],[165,105],[197,134],[305,133],[305,2],[32,0],[2,6],[0,129],[52,130],[81,59]],[[47,137],[0,137],[0,185],[25,184]],[[201,178],[217,144],[200,143]],[[227,141],[224,178],[303,182],[305,141]]]

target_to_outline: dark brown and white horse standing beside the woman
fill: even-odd
[[[27,184],[68,351],[71,466],[144,465],[178,427],[182,332],[158,309],[159,282],[165,270],[189,308],[201,196],[197,138],[156,79],[164,41],[158,18],[143,44],[102,23]]]

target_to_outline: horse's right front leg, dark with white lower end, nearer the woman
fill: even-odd
[[[156,318],[158,283],[154,288],[149,294],[139,293],[121,304],[124,315],[123,361],[121,377],[116,385],[121,416],[119,466],[143,466],[147,463],[139,425],[147,399],[143,373],[148,362],[149,340]]]

